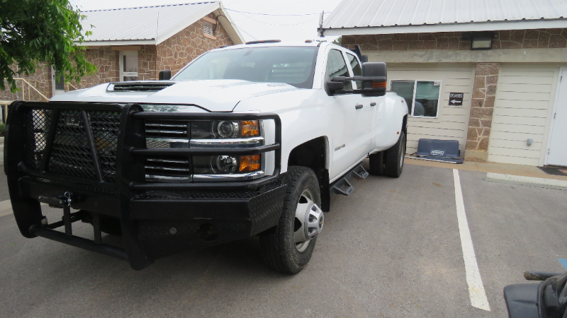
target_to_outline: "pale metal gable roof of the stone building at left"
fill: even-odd
[[[242,36],[223,9],[220,1],[207,1],[83,11],[86,19],[81,24],[92,35],[81,45],[157,45],[213,11],[225,17],[218,20],[232,42],[242,43]]]

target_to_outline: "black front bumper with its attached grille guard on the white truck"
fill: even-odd
[[[26,131],[26,125],[29,125],[26,122],[26,110],[54,110],[52,116],[55,117],[59,109],[62,109],[61,112],[69,108],[85,112],[85,108],[87,111],[99,109],[97,106],[114,107],[120,111],[120,131],[128,132],[120,133],[117,137],[116,175],[113,182],[101,177],[92,180],[49,171],[50,142],[56,134],[53,131],[55,129],[51,134],[49,131],[45,134],[43,157],[34,157],[36,161],[26,158],[26,154],[30,153],[30,134],[32,140],[38,139],[35,132]],[[142,116],[143,112],[137,105],[14,103],[9,112],[5,171],[13,213],[25,237],[45,237],[125,259],[133,269],[143,269],[159,257],[257,235],[274,228],[279,222],[286,192],[286,184],[279,177],[279,118],[276,120],[276,147],[264,146],[263,150],[259,150],[276,151],[278,163],[273,175],[250,182],[168,184],[145,182],[143,119],[155,114]],[[169,116],[191,118],[193,114]],[[237,114],[235,118],[242,116]],[[53,122],[56,120],[53,119]],[[89,129],[85,131],[88,133]],[[36,147],[35,144],[33,146]],[[90,146],[91,150],[96,149],[92,142]],[[218,151],[223,149],[213,152]],[[246,151],[250,152],[249,149]],[[191,155],[190,152],[187,150],[180,155]],[[96,159],[96,150],[91,153]],[[30,163],[37,165],[30,167]],[[99,171],[100,175],[103,173]],[[63,219],[55,223],[47,222],[41,211],[41,202],[62,208]],[[71,208],[78,211],[71,213]],[[101,227],[101,223],[105,218],[119,221],[122,247],[102,242],[101,228],[104,228],[104,224]],[[94,240],[72,235],[71,224],[78,220],[93,225]],[[54,230],[60,227],[65,231]]]

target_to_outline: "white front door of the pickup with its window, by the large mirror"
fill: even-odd
[[[327,54],[327,73],[326,78],[335,76],[352,76],[343,53],[338,49],[330,49]],[[344,89],[352,89],[352,83],[345,82]],[[361,117],[364,112],[364,105],[361,105],[360,94],[332,95],[329,97],[330,107],[332,107],[331,124],[333,128],[332,165],[330,167],[330,179],[339,177],[346,172],[360,158],[364,157],[364,150],[361,148],[361,130],[365,129],[361,125]],[[370,108],[366,105],[366,108]]]

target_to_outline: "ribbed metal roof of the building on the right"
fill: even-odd
[[[322,28],[325,35],[567,28],[566,18],[566,0],[343,0]]]

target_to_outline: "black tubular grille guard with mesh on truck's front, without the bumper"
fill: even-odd
[[[31,110],[40,110],[31,112]],[[281,171],[281,121],[277,114],[244,114],[244,113],[160,113],[160,112],[144,112],[142,107],[137,104],[106,104],[95,102],[13,102],[8,107],[8,121],[6,123],[6,141],[4,147],[4,171],[8,181],[10,199],[16,223],[23,236],[31,238],[36,236],[47,237],[51,240],[63,242],[68,245],[82,247],[102,254],[107,254],[119,259],[128,259],[133,269],[143,269],[153,262],[152,255],[142,249],[138,242],[137,234],[140,230],[140,224],[133,220],[132,203],[136,196],[144,195],[152,190],[181,190],[189,192],[191,190],[236,190],[237,192],[246,192],[260,188],[266,184],[274,182],[279,177]],[[101,113],[109,112],[115,116],[111,128],[104,126],[106,130],[100,126],[91,126],[94,120],[99,120],[97,124],[108,124],[105,118],[101,117]],[[40,129],[40,133],[35,131],[38,125],[30,124],[30,113],[32,119],[40,119],[39,126],[47,127]],[[49,114],[47,114],[49,113]],[[33,115],[38,115],[33,117]],[[69,117],[59,122],[64,126],[57,126],[61,114]],[[104,113],[106,114],[106,113]],[[89,117],[91,116],[91,117]],[[93,117],[94,116],[94,117]],[[97,117],[98,116],[98,117]],[[41,117],[41,118],[39,118]],[[118,117],[120,120],[118,121]],[[256,148],[243,148],[230,151],[225,148],[215,148],[214,150],[203,151],[202,149],[186,149],[183,151],[172,151],[171,149],[152,149],[145,148],[145,119],[233,119],[233,120],[259,120],[273,119],[275,122],[276,136],[275,143],[268,146],[260,146]],[[33,123],[32,120],[32,123]],[[77,124],[77,122],[79,122]],[[105,137],[106,135],[96,135],[96,129],[108,133],[108,129],[115,129],[119,122],[117,134]],[[37,124],[37,122],[35,122]],[[49,124],[52,129],[47,126]],[[30,125],[32,131],[28,131]],[[56,135],[59,131],[60,137],[57,139],[57,165],[52,165],[52,153]],[[64,131],[65,134],[62,134]],[[61,137],[64,135],[63,137]],[[106,138],[106,139],[104,139]],[[40,146],[38,147],[38,142]],[[30,143],[33,143],[33,151],[30,152]],[[102,144],[101,144],[102,143]],[[111,150],[108,149],[108,143],[111,143]],[[115,146],[116,145],[116,146]],[[78,149],[78,150],[77,150]],[[66,152],[67,151],[67,152]],[[80,160],[72,157],[72,151],[78,151]],[[275,152],[274,173],[268,177],[262,177],[252,181],[242,182],[191,182],[186,184],[174,183],[150,183],[145,181],[145,157],[146,155],[167,154],[167,155],[193,155],[193,154],[224,154],[232,155],[249,155],[252,153],[265,153],[267,151]],[[30,155],[30,153],[32,155]],[[82,161],[88,161],[83,163]],[[113,163],[111,162],[113,161]],[[55,169],[51,169],[55,167]],[[114,170],[113,170],[114,169]],[[51,171],[55,170],[57,172]],[[89,174],[81,174],[89,170]],[[75,175],[69,175],[69,171]],[[67,173],[67,174],[65,174]],[[43,213],[40,207],[42,197],[31,194],[30,187],[22,186],[22,184],[35,184],[36,189],[49,195],[57,195],[52,192],[75,191],[85,192],[91,196],[80,198],[74,205],[74,208],[82,209],[81,204],[86,204],[88,210],[120,218],[120,228],[123,237],[123,249],[118,249],[111,245],[101,244],[100,240],[100,223],[94,221],[95,240],[85,240],[82,237],[64,234],[51,230],[53,226],[42,226]],[[52,190],[55,189],[55,190]],[[281,186],[279,190],[281,191]],[[240,191],[242,190],[242,191]],[[271,194],[271,197],[274,197]],[[276,195],[279,198],[279,194]],[[96,199],[96,198],[100,199]],[[42,202],[51,202],[53,198],[43,198]],[[100,201],[101,199],[105,201]],[[46,201],[47,200],[47,201]],[[91,201],[89,201],[91,200]],[[93,204],[96,202],[105,202],[106,204]],[[56,200],[58,201],[58,200]],[[50,203],[51,204],[51,203]],[[172,204],[175,204],[172,202]],[[70,201],[69,201],[70,205]],[[277,207],[277,205],[275,205]],[[69,206],[66,207],[69,210]],[[281,207],[280,207],[281,208]],[[65,209],[65,208],[64,208]],[[263,211],[263,210],[262,210]],[[260,211],[260,212],[262,212]],[[80,212],[80,211],[79,211]],[[69,213],[67,213],[69,214]],[[262,213],[259,220],[263,220]],[[73,214],[68,216],[65,222],[66,232],[70,229],[70,222],[73,222]],[[98,216],[96,217],[98,220]],[[278,217],[279,219],[279,217]],[[69,223],[69,224],[67,224]],[[143,221],[138,221],[143,223]],[[60,225],[54,223],[52,225]],[[67,226],[69,225],[69,226]],[[269,224],[271,225],[271,224]],[[98,233],[98,236],[97,236]],[[98,239],[96,239],[98,237]]]

